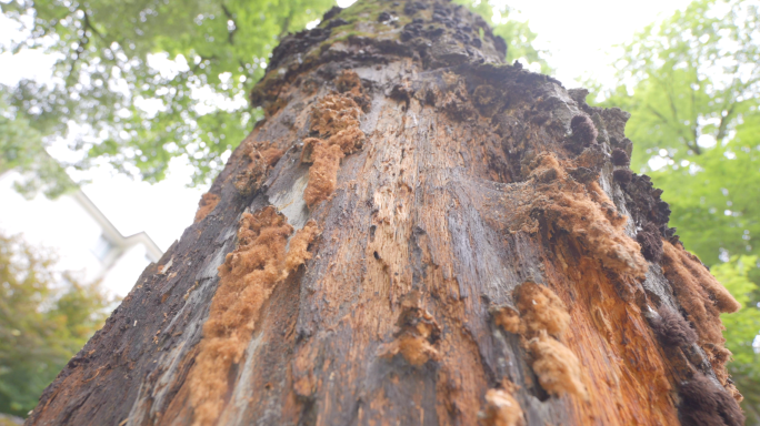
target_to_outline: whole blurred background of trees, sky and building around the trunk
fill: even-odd
[[[760,425],[760,1],[456,1],[508,61],[633,114],[631,168],[743,305],[724,336]],[[334,4],[0,0],[0,425],[192,223],[279,38]]]

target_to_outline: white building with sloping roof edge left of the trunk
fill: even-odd
[[[17,179],[16,172],[0,175],[0,230],[54,250],[58,268],[77,273],[82,282],[101,280],[104,290],[123,297],[163,254],[144,232],[122,235],[82,191],[27,200],[13,189]]]

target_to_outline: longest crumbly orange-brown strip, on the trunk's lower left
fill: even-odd
[[[203,338],[187,385],[193,406],[193,424],[213,424],[226,404],[229,372],[241,361],[259,312],[278,282],[311,257],[307,251],[317,234],[309,223],[292,239],[293,229],[273,207],[243,213],[238,246],[219,266],[220,282],[203,324]]]

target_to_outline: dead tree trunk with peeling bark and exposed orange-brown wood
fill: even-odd
[[[629,114],[506,49],[438,0],[287,37],[266,120],[28,424],[741,424],[737,303]]]

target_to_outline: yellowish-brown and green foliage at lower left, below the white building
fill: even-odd
[[[53,264],[50,253],[0,234],[0,413],[26,416],[107,317],[98,286]]]

